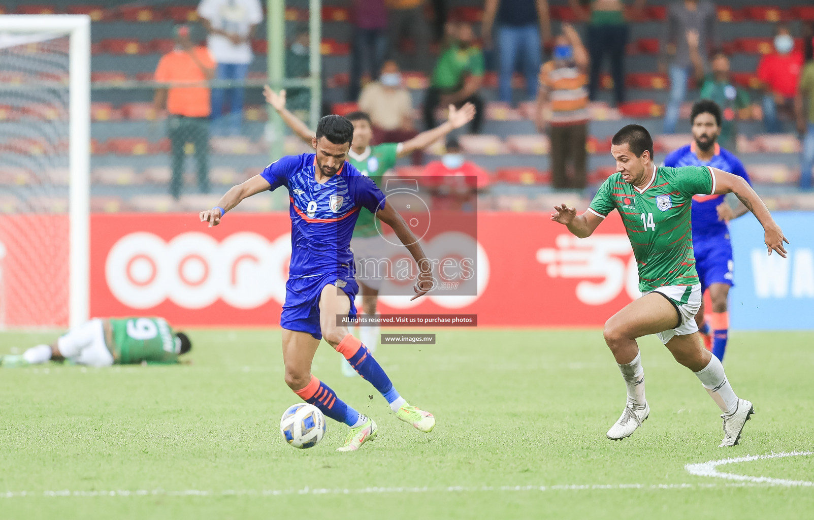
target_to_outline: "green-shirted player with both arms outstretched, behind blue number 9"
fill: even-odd
[[[287,110],[286,91],[281,90],[278,94],[266,85],[263,94],[265,94],[266,101],[274,107],[274,110],[286,122],[286,125],[294,130],[300,139],[310,145],[313,132],[297,116]],[[422,150],[453,130],[469,123],[475,117],[475,106],[472,103],[466,103],[460,109],[456,109],[454,105],[449,105],[449,119],[444,124],[419,133],[409,141],[384,142],[374,146],[370,146],[370,141],[373,139],[373,126],[370,124],[370,116],[365,112],[356,111],[345,117],[353,124],[353,143],[350,151],[348,151],[348,163],[357,168],[362,175],[370,177],[381,188],[384,173],[396,166],[396,159],[410,155],[414,151]],[[351,241],[353,256],[357,262],[363,264],[365,260],[374,260],[378,264],[379,258],[382,256],[382,239],[379,237],[379,231],[376,229],[374,220],[371,212],[361,208],[356,228],[353,229]],[[376,277],[363,277],[357,278],[357,282],[361,289],[362,311],[365,314],[375,314],[381,280],[376,279]],[[370,349],[370,352],[375,352],[379,344],[379,327],[360,327],[359,338]],[[356,375],[356,372],[344,361],[342,370],[346,376]]]

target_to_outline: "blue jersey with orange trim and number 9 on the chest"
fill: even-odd
[[[275,190],[288,188],[291,201],[291,266],[289,276],[324,273],[354,274],[350,248],[359,208],[375,213],[384,208],[384,194],[374,181],[345,162],[334,177],[320,184],[314,178],[317,156],[287,155],[260,175]]]

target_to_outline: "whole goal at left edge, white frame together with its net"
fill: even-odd
[[[0,16],[0,327],[87,318],[90,19]]]

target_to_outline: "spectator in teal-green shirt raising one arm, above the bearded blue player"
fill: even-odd
[[[698,53],[698,34],[690,32],[688,36],[689,59],[695,69],[695,79],[701,83],[701,98],[711,99],[721,109],[721,124],[718,142],[728,150],[736,149],[736,118],[747,119],[750,116],[749,93],[735,86],[729,75],[729,57],[723,50],[712,54],[711,72],[704,70],[704,63]]]

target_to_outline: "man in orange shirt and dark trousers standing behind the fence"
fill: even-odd
[[[211,109],[207,81],[215,76],[215,61],[206,47],[192,45],[190,28],[186,25],[175,28],[175,41],[175,49],[162,56],[155,69],[155,81],[173,86],[155,90],[153,104],[156,113],[164,108],[164,103],[167,105],[167,133],[173,157],[169,192],[177,199],[183,184],[187,142],[195,146],[199,190],[209,192],[208,117]]]

